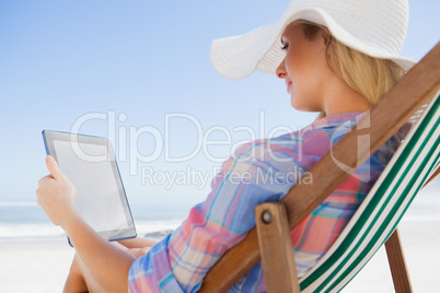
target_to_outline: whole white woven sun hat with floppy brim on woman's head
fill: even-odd
[[[276,22],[244,35],[215,39],[212,66],[232,80],[244,79],[255,70],[274,74],[286,56],[281,34],[297,20],[324,25],[346,46],[391,59],[404,70],[415,63],[398,57],[408,25],[407,0],[291,0]]]

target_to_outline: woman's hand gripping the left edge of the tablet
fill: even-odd
[[[50,175],[38,181],[37,203],[54,224],[65,228],[68,219],[78,215],[74,208],[76,190],[53,156],[46,156],[46,166]]]

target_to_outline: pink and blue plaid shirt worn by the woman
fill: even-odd
[[[255,226],[255,207],[281,199],[293,184],[313,184],[308,171],[363,114],[352,112],[322,118],[299,131],[239,148],[222,164],[207,199],[190,210],[177,230],[132,263],[129,291],[197,291],[212,265]],[[391,138],[291,232],[299,277],[335,242],[402,138]],[[362,142],[359,137],[358,143],[368,140]],[[229,292],[264,291],[258,263]]]

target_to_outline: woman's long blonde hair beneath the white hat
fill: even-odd
[[[347,47],[332,36],[329,30],[313,22],[299,20],[306,38],[313,38],[322,31],[327,42],[328,66],[356,92],[367,98],[371,106],[393,87],[405,71],[390,59],[379,59]],[[316,119],[325,117],[321,113]]]

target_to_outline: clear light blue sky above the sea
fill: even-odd
[[[212,39],[268,24],[288,2],[0,1],[0,201],[35,200],[43,129],[115,138],[129,199],[201,200],[231,149],[316,115],[291,108],[276,77],[230,81],[209,61]],[[439,40],[440,1],[409,7],[401,56],[417,61]]]

